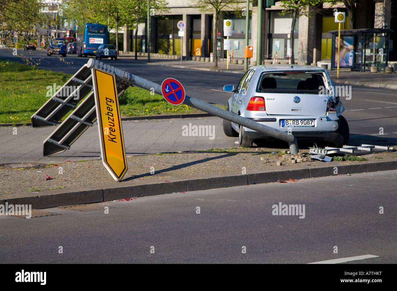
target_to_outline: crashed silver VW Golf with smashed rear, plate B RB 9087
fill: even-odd
[[[319,139],[333,146],[349,143],[345,110],[327,70],[307,65],[261,65],[245,72],[237,86],[226,85],[233,95],[230,112],[293,134],[297,139]],[[272,139],[224,120],[224,133],[239,137],[241,146],[254,139]]]

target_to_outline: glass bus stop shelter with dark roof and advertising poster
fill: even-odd
[[[337,68],[339,59],[339,68],[367,72],[370,67],[378,67],[379,71],[385,71],[389,51],[393,49],[393,42],[389,41],[391,32],[393,30],[382,28],[342,29],[338,40],[338,30],[329,31],[332,34],[331,69]]]

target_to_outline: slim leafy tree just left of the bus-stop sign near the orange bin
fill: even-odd
[[[239,4],[241,5],[242,2],[241,0],[190,0],[190,2],[192,5],[198,7],[201,12],[212,11],[214,14],[214,40],[212,52],[214,53],[214,67],[218,67],[216,44],[218,41],[218,21],[220,13],[224,10],[238,10]]]

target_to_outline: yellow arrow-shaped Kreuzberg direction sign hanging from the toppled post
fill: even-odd
[[[128,168],[116,79],[113,74],[96,68],[92,69],[92,76],[102,163],[110,175],[120,181]]]

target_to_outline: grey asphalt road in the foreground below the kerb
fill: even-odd
[[[395,264],[396,178],[396,170],[362,173],[148,196],[87,212],[44,209],[60,214],[48,217],[0,216],[0,257],[23,264],[296,264],[373,255],[348,263]],[[273,215],[280,202],[304,205],[304,218]]]

